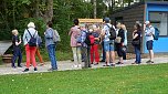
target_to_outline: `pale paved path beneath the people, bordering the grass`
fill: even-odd
[[[127,60],[125,64],[123,65],[116,65],[116,66],[127,66],[127,65],[132,65],[132,63],[135,60]],[[141,60],[141,64],[146,64],[145,62],[147,61],[147,59],[143,59]],[[155,58],[155,64],[159,64],[159,63],[168,63],[168,58]],[[117,61],[116,61],[117,62]],[[103,67],[104,63],[99,63],[98,65],[92,65],[92,69],[98,69],[98,67]],[[74,69],[72,67],[73,62],[71,61],[59,61],[57,62],[59,65],[59,71],[66,71],[66,70],[81,70],[81,67]],[[25,69],[25,66],[23,67],[17,67],[17,69],[12,69],[10,66],[10,64],[4,64],[0,66],[0,75],[6,75],[6,74],[23,74],[23,70]],[[45,65],[43,66],[38,66],[38,72],[35,73],[41,73],[41,72],[48,72],[48,69],[50,69],[50,62],[45,62]],[[30,67],[30,71],[28,73],[34,73],[33,71],[33,66]]]

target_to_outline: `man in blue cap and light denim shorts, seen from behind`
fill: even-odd
[[[114,40],[109,40],[109,29],[113,28],[113,25],[109,23],[109,18],[103,19],[104,27],[102,30],[102,35],[104,36],[104,49],[106,53],[106,64],[104,66],[115,66],[115,52],[114,52]],[[112,62],[111,62],[112,60]]]

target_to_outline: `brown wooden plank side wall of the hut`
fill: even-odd
[[[128,39],[128,52],[134,52],[134,48],[132,45],[132,33],[134,31],[134,24],[136,21],[139,21],[140,23],[144,22],[144,12],[145,12],[145,4],[134,6],[125,10],[120,10],[118,12],[115,12],[112,14],[112,21],[115,22],[116,18],[119,17],[119,19],[123,18],[124,24],[126,24],[127,28],[127,39]],[[141,43],[143,49],[143,43]]]

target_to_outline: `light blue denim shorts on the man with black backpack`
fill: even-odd
[[[105,52],[114,51],[114,42],[113,41],[104,41],[104,51]]]

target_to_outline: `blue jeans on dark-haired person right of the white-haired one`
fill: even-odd
[[[55,44],[48,45],[48,53],[53,70],[57,70],[56,58],[55,58]]]

